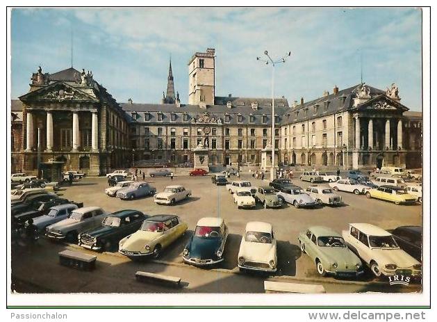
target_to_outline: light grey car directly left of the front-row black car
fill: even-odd
[[[68,218],[47,227],[46,236],[49,239],[76,241],[81,232],[99,227],[105,216],[106,212],[100,207],[75,209]]]

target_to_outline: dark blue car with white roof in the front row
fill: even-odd
[[[222,218],[201,218],[182,252],[182,259],[193,265],[213,265],[223,261],[228,227]]]

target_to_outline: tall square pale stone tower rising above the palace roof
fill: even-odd
[[[214,104],[215,97],[215,49],[208,48],[206,53],[194,54],[188,63],[188,104]]]

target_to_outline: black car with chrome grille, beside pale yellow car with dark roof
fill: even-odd
[[[124,237],[140,229],[149,218],[137,210],[120,210],[108,215],[100,227],[79,235],[79,246],[91,250],[111,250]]]

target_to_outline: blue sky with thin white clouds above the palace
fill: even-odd
[[[71,67],[73,35],[73,67],[92,70],[119,103],[160,102],[171,56],[186,104],[190,57],[215,48],[216,96],[271,97],[271,66],[256,57],[291,51],[275,67],[275,96],[290,105],[357,85],[362,67],[365,83],[396,83],[402,104],[422,109],[420,9],[15,8],[11,17],[13,99],[28,92],[38,65]]]

